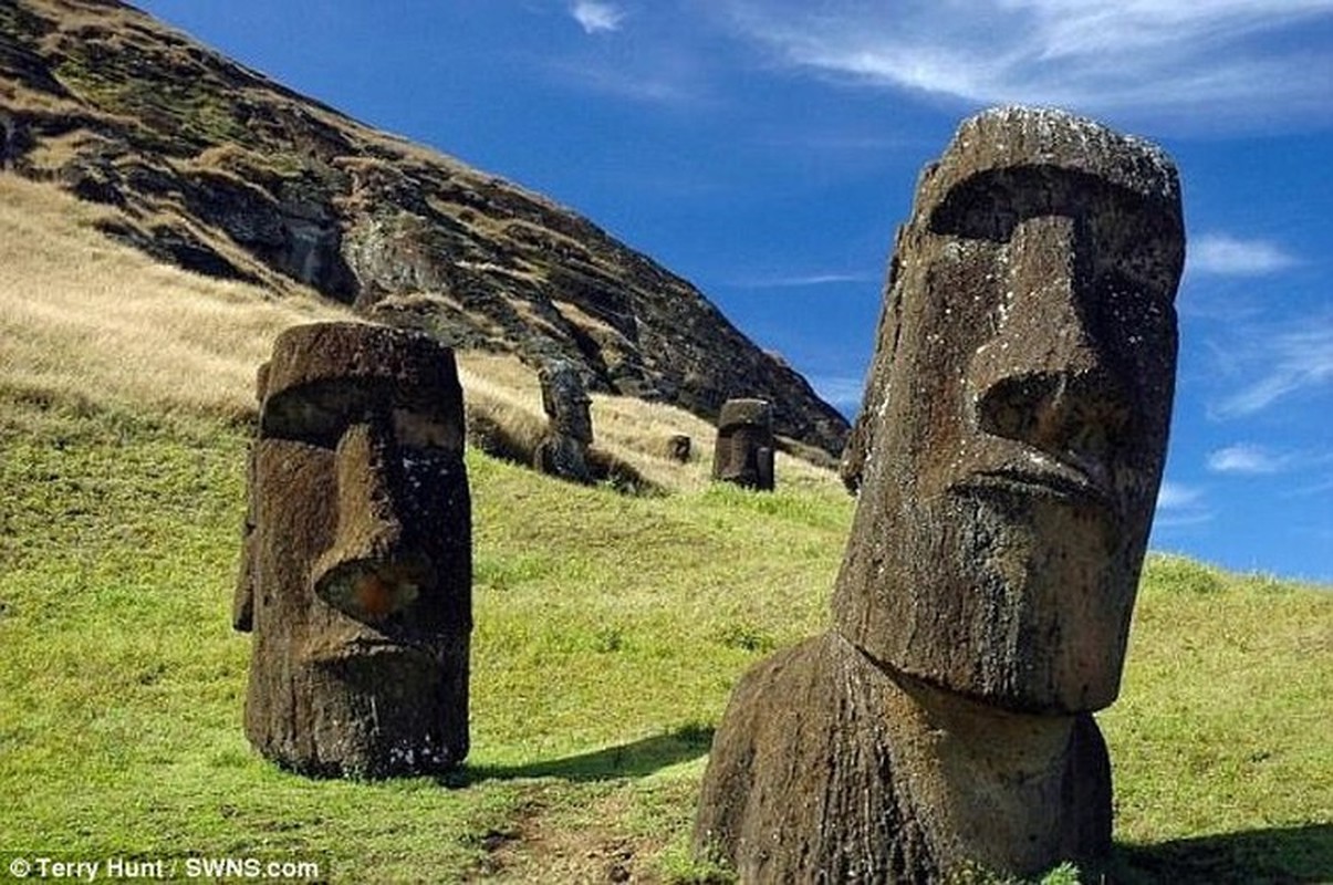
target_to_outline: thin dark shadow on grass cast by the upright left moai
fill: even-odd
[[[520,777],[559,777],[573,782],[607,781],[617,777],[643,777],[668,765],[688,762],[708,753],[713,729],[685,725],[620,746],[565,758],[525,765],[468,765],[444,780],[447,786],[468,786],[480,781],[505,781]]]

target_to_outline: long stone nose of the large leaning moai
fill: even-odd
[[[1132,405],[1098,340],[1092,257],[1073,219],[1041,216],[1014,227],[1006,303],[994,339],[972,360],[969,383],[984,432],[1104,465]]]

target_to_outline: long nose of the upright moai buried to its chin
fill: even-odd
[[[392,435],[356,424],[337,446],[337,534],[315,562],[315,593],[376,624],[408,609],[435,581],[429,558],[409,542],[400,514],[403,466]]]

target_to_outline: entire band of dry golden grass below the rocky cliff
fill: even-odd
[[[23,395],[244,420],[255,369],[284,328],[352,313],[313,293],[275,297],[155,263],[95,229],[109,211],[0,175],[0,387]],[[459,355],[473,431],[503,428],[517,460],[545,428],[536,375],[513,356]],[[681,409],[593,395],[595,449],[663,489],[700,490],[716,431]],[[673,435],[692,441],[673,461]],[[782,485],[832,488],[778,454]]]

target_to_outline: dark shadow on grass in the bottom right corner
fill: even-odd
[[[1120,845],[1130,885],[1312,885],[1333,882],[1333,824],[1308,824]],[[1121,877],[1117,877],[1120,881]]]

